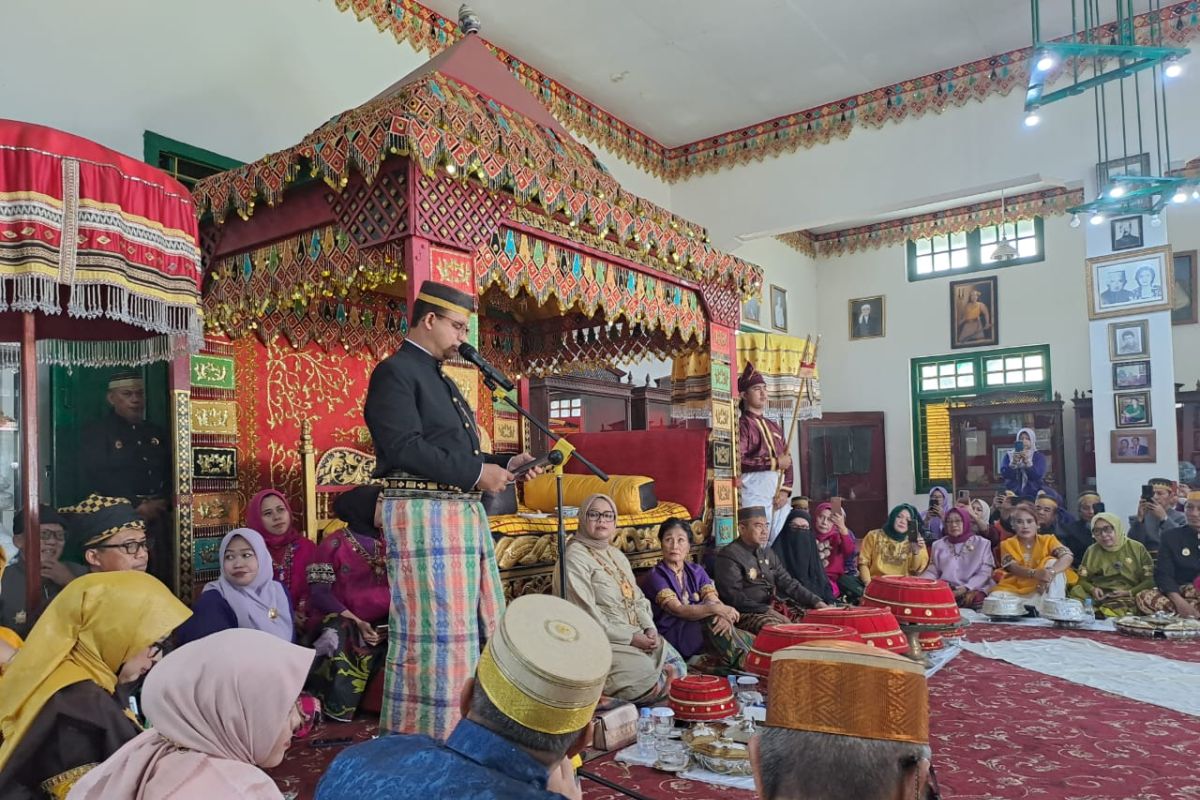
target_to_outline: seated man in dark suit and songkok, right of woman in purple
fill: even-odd
[[[798,621],[804,608],[826,607],[767,546],[767,512],[761,506],[738,510],[738,537],[716,553],[714,572],[716,593],[738,609],[737,626],[751,633]]]

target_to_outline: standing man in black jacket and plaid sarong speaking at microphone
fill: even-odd
[[[482,452],[475,414],[443,369],[467,341],[474,311],[473,296],[422,283],[404,343],[376,366],[367,389],[374,476],[388,480],[392,600],[379,726],[392,733],[450,733],[454,692],[504,609],[479,493],[503,491],[515,480],[510,470],[533,457]]]

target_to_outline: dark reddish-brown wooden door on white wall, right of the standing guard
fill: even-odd
[[[838,495],[859,539],[888,519],[883,413],[826,414],[800,423],[800,481],[812,506]]]

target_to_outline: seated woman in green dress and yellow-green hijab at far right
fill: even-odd
[[[1150,551],[1129,539],[1124,521],[1115,513],[1092,515],[1092,536],[1096,543],[1084,553],[1070,596],[1091,599],[1104,616],[1139,614],[1138,594],[1154,588]]]

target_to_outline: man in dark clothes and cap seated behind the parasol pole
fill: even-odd
[[[61,560],[62,546],[66,542],[66,519],[54,509],[43,505],[37,512],[41,531],[42,589],[41,602],[36,608],[26,608],[25,597],[25,515],[17,511],[12,525],[12,542],[17,546],[17,557],[5,569],[0,577],[0,626],[12,628],[18,636],[29,636],[37,615],[46,604],[54,600],[62,587],[82,575],[88,569],[79,564]]]

